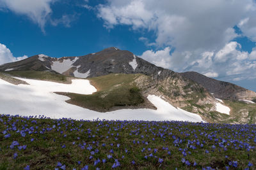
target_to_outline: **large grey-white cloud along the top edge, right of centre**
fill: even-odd
[[[108,28],[120,24],[154,31],[158,46],[216,50],[237,36],[233,27],[242,24],[244,16],[253,16],[248,11],[253,4],[252,0],[108,0],[98,6],[98,17]]]

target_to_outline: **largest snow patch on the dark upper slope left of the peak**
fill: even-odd
[[[68,69],[70,69],[72,66],[72,64],[74,62],[76,62],[76,60],[79,59],[79,57],[76,57],[74,60],[70,60],[70,59],[63,59],[63,62],[58,61],[53,61],[52,62],[52,70],[58,72],[58,73],[63,73],[65,71],[67,71]]]

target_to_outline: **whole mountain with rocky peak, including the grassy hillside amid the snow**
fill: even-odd
[[[71,81],[67,80],[70,80],[72,77],[88,78],[97,89],[100,89],[102,84],[109,83],[107,90],[105,89],[105,91],[97,92],[99,95],[95,94],[95,96],[87,101],[96,98],[97,101],[101,101],[102,96],[116,96],[116,94],[113,95],[113,93],[120,92],[120,90],[124,90],[124,92],[118,94],[119,96],[127,94],[130,96],[123,99],[124,103],[122,106],[118,106],[118,102],[116,102],[117,99],[120,99],[119,97],[116,97],[114,101],[109,98],[111,102],[109,102],[108,107],[99,109],[95,104],[92,106],[92,103],[84,103],[84,100],[81,100],[82,98],[84,99],[83,96],[67,93],[63,94],[71,98],[69,103],[84,106],[84,108],[94,108],[94,110],[97,111],[118,110],[120,108],[129,108],[129,106],[134,108],[135,105],[136,108],[152,108],[150,104],[134,103],[134,99],[136,99],[136,102],[143,99],[142,101],[144,103],[148,103],[147,96],[155,95],[161,96],[165,101],[172,104],[172,106],[197,113],[207,122],[227,122],[230,120],[235,121],[236,118],[239,117],[239,115],[232,113],[233,110],[230,112],[229,108],[234,107],[234,102],[228,103],[228,100],[237,101],[239,102],[239,105],[244,104],[244,102],[239,100],[252,101],[254,97],[256,97],[255,92],[243,89],[237,85],[207,78],[206,76],[195,72],[175,73],[169,69],[157,67],[154,64],[137,57],[132,52],[119,50],[115,47],[106,48],[100,52],[90,53],[80,57],[55,58],[43,54],[34,55],[28,59],[3,64],[0,66],[0,71],[12,76],[61,81],[65,83],[70,83]],[[116,83],[115,74],[124,74],[124,76],[122,76],[122,81],[129,81],[126,83],[121,81]],[[138,76],[134,76],[131,79],[128,78],[129,74],[138,74]],[[108,77],[108,75],[110,76]],[[116,90],[116,87],[120,87],[119,90]],[[135,98],[134,94],[131,93],[133,91],[132,88],[134,87],[138,88],[138,91],[135,90],[135,96],[137,96]],[[140,95],[138,96],[138,93],[141,94],[142,98],[140,98]],[[220,99],[223,99],[224,101],[220,101]],[[104,101],[102,103],[104,103]],[[238,112],[244,110],[244,106],[239,105],[237,110]],[[246,111],[248,113],[244,112],[243,114],[241,113],[241,115],[246,117],[252,110],[254,110],[253,107],[247,108]],[[232,114],[227,116],[223,113]],[[253,115],[254,112],[250,117],[253,117]],[[236,120],[235,123],[239,123],[239,121],[240,120]],[[244,123],[246,121],[248,122],[248,120],[243,120],[242,122]]]

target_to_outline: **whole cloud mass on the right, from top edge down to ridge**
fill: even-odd
[[[141,57],[174,71],[198,71],[232,80],[256,76],[256,50],[243,52],[234,38],[237,25],[242,36],[256,41],[256,3],[253,0],[108,0],[98,7],[105,27],[130,25],[134,31],[152,31],[156,39]],[[166,47],[167,46],[167,47]],[[170,54],[170,49],[175,49]],[[228,81],[228,80],[227,80]]]

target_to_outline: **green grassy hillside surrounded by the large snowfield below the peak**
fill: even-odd
[[[70,97],[68,103],[76,104],[83,108],[95,111],[110,111],[115,108],[127,106],[145,108],[147,99],[140,93],[134,80],[142,76],[141,74],[108,74],[90,78],[90,83],[96,87],[97,92],[92,95],[61,93]]]

